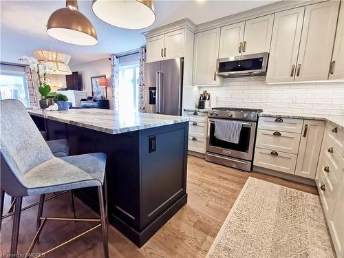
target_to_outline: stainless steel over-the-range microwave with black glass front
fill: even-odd
[[[264,76],[268,67],[268,52],[217,59],[217,75],[230,78]]]

